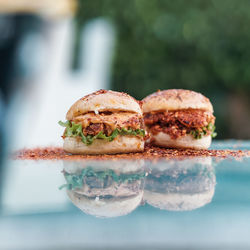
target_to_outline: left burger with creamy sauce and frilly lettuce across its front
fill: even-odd
[[[138,101],[125,93],[99,90],[75,102],[66,115],[66,152],[116,154],[144,150],[144,122]]]

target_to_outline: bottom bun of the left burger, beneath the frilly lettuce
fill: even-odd
[[[85,145],[79,138],[66,137],[63,149],[71,154],[132,153],[144,150],[144,140],[136,136],[117,136],[111,142],[96,139],[91,145]]]

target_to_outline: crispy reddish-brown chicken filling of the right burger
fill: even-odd
[[[205,131],[211,134],[209,124],[214,124],[215,117],[211,112],[187,109],[176,111],[159,111],[144,114],[145,125],[152,134],[164,132],[172,139],[177,139],[192,131]]]

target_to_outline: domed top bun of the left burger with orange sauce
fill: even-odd
[[[142,115],[139,102],[130,95],[111,90],[99,90],[76,101],[69,109],[66,119],[73,120],[75,117],[91,111],[95,113],[127,111]]]

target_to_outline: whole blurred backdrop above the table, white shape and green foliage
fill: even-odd
[[[2,134],[11,149],[61,144],[57,121],[87,93],[184,88],[210,98],[218,139],[249,139],[249,10],[248,0],[0,0]]]

